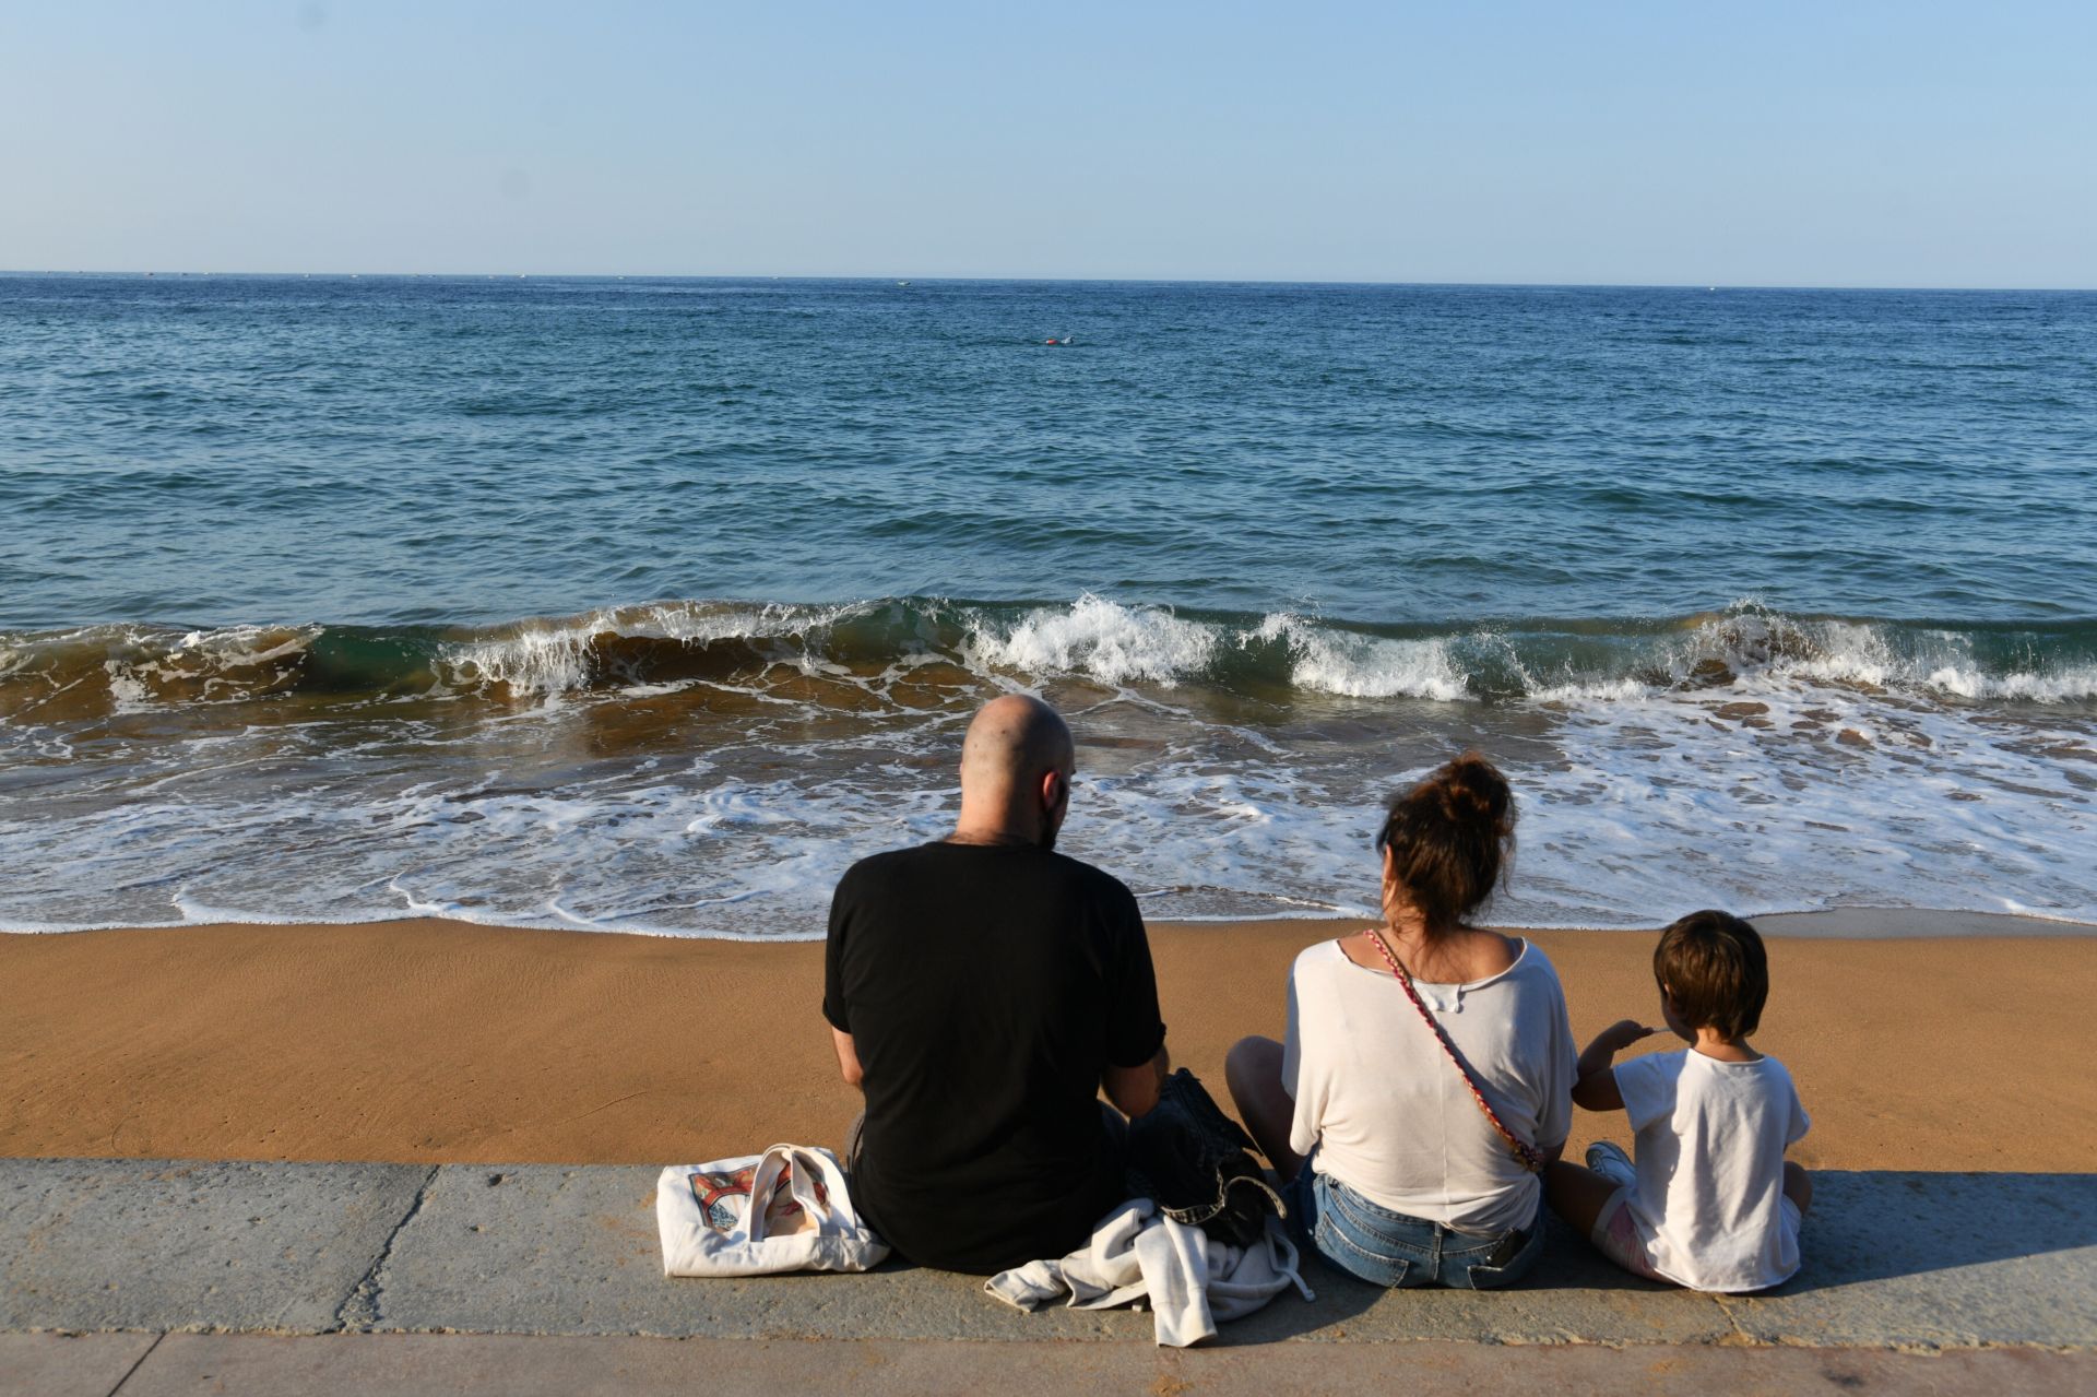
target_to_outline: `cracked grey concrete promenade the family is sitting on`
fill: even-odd
[[[2097,1175],[1818,1175],[1806,1269],[1761,1296],[1650,1286],[1564,1231],[1499,1294],[1380,1292],[1311,1261],[1315,1303],[1285,1294],[1193,1353],[1155,1351],[1147,1313],[1023,1315],[898,1265],[665,1280],[654,1177],[0,1160],[0,1391],[761,1391],[833,1387],[839,1363],[872,1391],[963,1391],[1013,1363],[1162,1393],[1392,1366],[1453,1391],[1516,1370],[1573,1389],[2097,1389]]]

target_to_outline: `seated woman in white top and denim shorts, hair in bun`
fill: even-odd
[[[1298,954],[1288,1040],[1239,1040],[1225,1078],[1327,1261],[1380,1286],[1506,1286],[1541,1250],[1577,1061],[1552,963],[1468,925],[1514,850],[1514,795],[1464,753],[1390,801],[1376,847],[1384,925]]]

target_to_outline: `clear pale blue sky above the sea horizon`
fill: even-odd
[[[0,266],[2097,287],[2097,4],[0,8]]]

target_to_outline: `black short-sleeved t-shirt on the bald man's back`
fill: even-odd
[[[853,1202],[948,1271],[1063,1256],[1122,1198],[1097,1093],[1164,1047],[1137,900],[1036,847],[864,858],[830,902],[822,1013],[864,1068]]]

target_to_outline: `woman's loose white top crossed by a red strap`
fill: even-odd
[[[1558,971],[1531,942],[1470,984],[1415,980],[1420,998],[1518,1137],[1552,1149],[1573,1126],[1579,1053]],[[1468,1233],[1529,1227],[1543,1187],[1472,1099],[1434,1030],[1388,969],[1319,942],[1290,969],[1281,1087],[1290,1147],[1369,1202]]]

